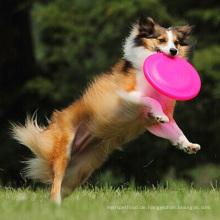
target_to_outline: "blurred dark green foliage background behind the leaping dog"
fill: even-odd
[[[187,155],[167,140],[145,133],[114,152],[90,178],[93,185],[133,182],[152,186],[172,179],[198,187],[220,179],[220,3],[219,0],[4,0],[0,7],[0,184],[23,186],[23,164],[31,157],[11,140],[9,121],[24,122],[38,109],[46,123],[80,97],[86,85],[122,57],[122,43],[139,15],[162,26],[195,25],[193,65],[202,90],[178,102],[175,119],[201,151]]]

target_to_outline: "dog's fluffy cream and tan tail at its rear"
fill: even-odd
[[[28,116],[25,125],[11,123],[12,137],[19,143],[27,146],[35,155],[35,158],[25,163],[25,176],[31,179],[38,179],[42,182],[52,181],[52,170],[49,165],[49,154],[52,151],[53,143],[49,132],[45,127],[37,124],[37,119]]]

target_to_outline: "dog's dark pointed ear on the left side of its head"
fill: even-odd
[[[150,17],[145,17],[143,14],[139,18],[139,31],[146,32],[147,34],[152,34],[154,31],[155,22]]]

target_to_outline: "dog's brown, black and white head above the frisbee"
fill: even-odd
[[[158,52],[171,57],[178,55],[189,61],[195,45],[188,43],[193,28],[188,25],[164,28],[142,15],[125,41],[125,58],[136,67],[140,67],[149,55]]]

